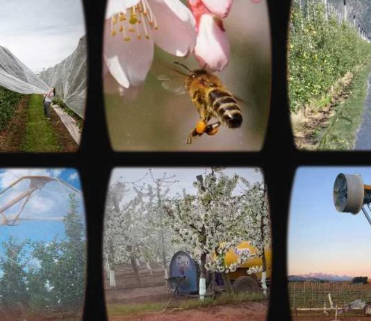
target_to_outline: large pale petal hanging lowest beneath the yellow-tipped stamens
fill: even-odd
[[[136,38],[136,33],[127,33],[130,41],[124,41],[122,33],[117,31],[111,35],[110,19],[106,20],[104,28],[104,60],[110,73],[116,81],[129,88],[138,86],[145,81],[149,68],[154,58],[153,37],[142,40]]]

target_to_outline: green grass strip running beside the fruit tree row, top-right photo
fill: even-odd
[[[362,122],[370,72],[371,60],[354,77],[349,86],[352,94],[343,104],[336,107],[336,113],[330,118],[329,126],[322,135],[318,149],[349,150],[354,148],[356,132]]]

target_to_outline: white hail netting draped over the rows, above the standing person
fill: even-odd
[[[56,96],[80,117],[84,117],[87,87],[86,38],[83,36],[74,52],[39,76],[33,73],[8,49],[0,46],[0,87],[21,94],[42,94],[51,87]]]

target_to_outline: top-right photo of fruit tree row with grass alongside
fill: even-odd
[[[371,3],[292,0],[288,97],[297,149],[371,149]]]

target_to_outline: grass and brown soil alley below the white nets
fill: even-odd
[[[36,113],[30,110],[31,99],[40,102]],[[40,105],[40,106],[39,106]],[[4,152],[73,152],[77,151],[78,145],[72,139],[63,122],[51,108],[51,121],[43,116],[42,99],[38,95],[27,95],[23,97],[17,106],[17,111],[6,129],[0,133],[0,151]],[[40,109],[40,110],[39,110]],[[31,119],[34,117],[36,119]],[[49,124],[46,124],[49,122]],[[42,131],[47,128],[55,136],[52,146],[44,145],[45,138]],[[33,142],[33,145],[29,144]],[[35,148],[37,146],[38,148]]]

